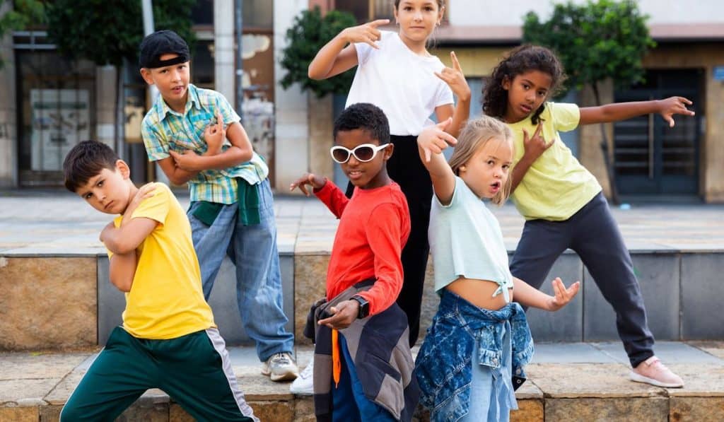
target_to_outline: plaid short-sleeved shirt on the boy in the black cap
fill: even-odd
[[[143,145],[150,161],[169,157],[169,149],[179,153],[190,149],[198,154],[206,152],[203,130],[221,111],[224,124],[239,122],[240,117],[221,93],[215,90],[196,88],[188,85],[188,100],[183,114],[169,108],[164,98],[159,96],[141,123]],[[231,146],[224,140],[222,149]],[[269,167],[264,160],[253,153],[251,161],[238,164],[224,170],[203,170],[188,181],[191,201],[209,201],[230,204],[237,201],[237,182],[242,177],[250,185],[256,185],[266,179]]]

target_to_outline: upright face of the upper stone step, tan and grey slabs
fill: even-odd
[[[724,297],[724,253],[633,250],[649,327],[659,340],[721,340],[724,324],[711,318]],[[287,330],[309,344],[302,330],[309,305],[324,295],[329,253],[281,253]],[[108,259],[94,253],[74,256],[0,256],[0,350],[47,350],[104,345],[121,323],[124,295],[108,282]],[[230,345],[250,344],[237,311],[235,275],[224,261],[209,303]],[[581,280],[573,302],[557,313],[531,309],[529,323],[538,341],[592,342],[618,339],[613,309],[575,253],[564,253],[547,280]],[[551,293],[550,282],[542,290]],[[429,263],[422,305],[421,335],[437,310]]]

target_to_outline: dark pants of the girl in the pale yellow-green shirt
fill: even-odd
[[[613,306],[618,336],[631,366],[653,356],[654,337],[631,255],[602,193],[565,221],[526,221],[510,272],[538,289],[566,248],[578,253],[603,297]]]

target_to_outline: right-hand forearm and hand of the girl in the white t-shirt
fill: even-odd
[[[452,104],[445,104],[443,106],[437,106],[435,108],[435,116],[438,122],[443,122],[449,117],[452,117],[452,122],[447,126],[445,132],[450,133],[453,137],[460,135],[460,130],[463,129],[468,117],[470,117],[470,87],[468,81],[465,79],[463,69],[460,68],[460,62],[458,62],[458,56],[455,55],[455,51],[450,51],[450,59],[452,60],[452,67],[445,67],[442,72],[435,72],[435,75],[440,79],[444,80],[452,93],[458,97],[458,104],[455,107]]]

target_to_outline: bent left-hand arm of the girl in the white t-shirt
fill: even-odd
[[[388,23],[389,19],[380,19],[345,28],[314,56],[307,69],[308,76],[313,80],[322,80],[352,69],[358,64],[354,43],[368,43],[373,48],[379,48],[374,43],[382,37],[377,27]]]

